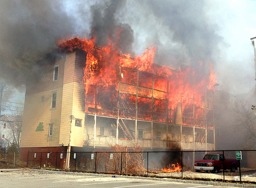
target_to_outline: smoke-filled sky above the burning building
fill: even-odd
[[[120,34],[120,51],[141,55],[156,47],[155,63],[217,74],[217,90],[255,86],[255,0],[0,0],[0,79],[17,88],[37,80],[58,52],[56,40]],[[24,88],[23,88],[24,89]]]

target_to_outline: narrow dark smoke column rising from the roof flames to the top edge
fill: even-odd
[[[133,30],[130,25],[118,22],[118,13],[125,7],[124,0],[112,0],[109,2],[91,6],[91,36],[96,37],[96,45],[104,46],[108,39],[117,41],[117,48],[122,53],[132,53]],[[117,39],[117,35],[120,39]]]

